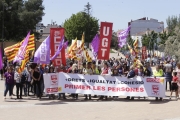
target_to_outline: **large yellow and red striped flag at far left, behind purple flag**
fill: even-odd
[[[21,41],[20,43],[6,47],[4,49],[4,52],[6,53],[6,56],[7,56],[7,59],[9,62],[13,61],[16,53],[18,52],[18,50],[19,50],[20,46],[22,45],[22,43],[24,42],[24,40]],[[27,50],[34,50],[34,49],[35,49],[35,42],[34,42],[34,34],[33,34],[33,35],[29,36]]]

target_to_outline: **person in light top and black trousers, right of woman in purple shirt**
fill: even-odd
[[[21,84],[22,74],[18,73],[18,71],[19,71],[19,66],[16,67],[16,70],[15,70],[15,73],[14,73],[14,80],[16,81],[16,95],[17,95],[17,99],[23,99],[22,98],[23,84]],[[19,96],[19,91],[20,91],[20,96]]]

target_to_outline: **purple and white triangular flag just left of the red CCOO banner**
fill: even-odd
[[[49,64],[50,62],[50,36],[39,46],[34,54],[34,63]]]

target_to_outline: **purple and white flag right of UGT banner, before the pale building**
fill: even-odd
[[[119,33],[119,44],[118,46],[120,48],[122,48],[124,45],[126,45],[126,39],[127,39],[127,36],[129,34],[129,31],[130,31],[130,28],[131,28],[131,25],[126,29],[126,30],[123,30]]]

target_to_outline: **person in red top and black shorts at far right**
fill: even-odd
[[[177,76],[177,72],[174,72],[173,73],[173,79],[172,79],[172,86],[171,86],[171,94],[170,94],[169,99],[171,99],[172,93],[173,93],[173,91],[175,91],[176,100],[178,100],[179,99],[179,97],[178,97],[178,86],[177,86],[178,77],[176,77],[176,76]]]

